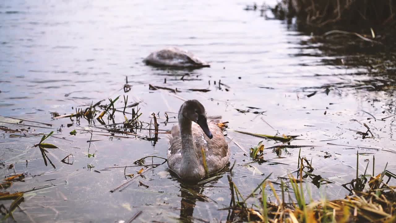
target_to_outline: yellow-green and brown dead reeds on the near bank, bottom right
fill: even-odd
[[[240,194],[238,187],[232,181],[231,172],[228,175],[231,192],[230,205],[229,208],[223,209],[228,210],[227,221],[391,223],[396,220],[396,215],[394,215],[394,210],[396,210],[395,186],[388,185],[390,179],[396,179],[396,176],[387,171],[386,167],[382,173],[376,176],[364,174],[360,178],[353,179],[350,184],[352,185],[355,182],[356,185],[356,182],[358,182],[359,186],[348,189],[351,192],[349,196],[336,200],[324,198],[318,201],[304,195],[303,179],[312,171],[311,163],[306,158],[301,158],[297,178],[291,174],[288,176],[288,184],[291,185],[292,190],[289,190],[290,187],[287,186],[287,183],[281,180],[281,193],[278,194],[273,183],[268,180],[270,174],[246,198]],[[303,173],[306,173],[306,175],[303,176]],[[385,176],[388,177],[387,181],[385,181]],[[369,177],[369,179],[366,177]],[[266,192],[268,187],[271,191],[269,194]],[[259,189],[260,192],[258,192]],[[309,190],[308,194],[310,196]],[[273,202],[268,200],[270,195],[275,199]],[[259,206],[254,203],[249,204],[247,202],[249,197],[258,199]],[[288,199],[288,202],[286,202],[286,199]]]

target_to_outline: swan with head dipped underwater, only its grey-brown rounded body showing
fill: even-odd
[[[176,47],[166,48],[148,55],[143,60],[146,64],[154,66],[168,67],[210,67],[203,60],[194,56],[194,54]]]

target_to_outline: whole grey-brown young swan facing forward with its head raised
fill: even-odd
[[[205,177],[204,148],[209,174],[221,170],[228,163],[230,149],[217,125],[220,120],[208,117],[208,123],[205,108],[197,100],[184,102],[178,117],[179,126],[173,126],[169,136],[169,169],[184,181],[199,181]]]

